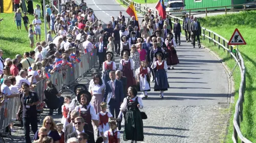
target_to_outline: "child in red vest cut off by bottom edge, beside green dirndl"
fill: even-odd
[[[110,130],[104,132],[104,136],[107,138],[104,143],[120,143],[120,132],[116,130],[116,121],[112,120],[109,122]]]

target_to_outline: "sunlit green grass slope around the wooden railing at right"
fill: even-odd
[[[241,130],[243,135],[252,142],[256,142],[256,49],[254,40],[256,39],[256,21],[252,15],[256,12],[241,12],[239,14],[230,15],[219,15],[214,17],[206,17],[200,19],[202,25],[209,28],[211,31],[218,33],[227,40],[230,39],[235,28],[238,28],[242,36],[244,37],[247,45],[239,46],[239,50],[243,55],[245,66],[246,66],[246,92],[245,92],[245,102],[243,110],[244,121],[241,123]],[[207,34],[207,33],[206,33]],[[209,47],[211,50],[218,53],[224,62],[227,64],[228,68],[231,70],[235,62],[224,52],[222,49],[219,50],[214,44],[209,44],[208,40],[203,41],[203,44]],[[237,67],[234,74],[235,81],[235,101],[238,99],[238,90],[240,85],[240,70]],[[227,142],[232,142],[232,131],[233,131],[233,113],[234,104],[231,106],[232,116],[230,117],[230,125],[228,127],[228,137]]]

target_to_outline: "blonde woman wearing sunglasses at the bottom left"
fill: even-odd
[[[53,118],[51,116],[45,117],[44,121],[42,122],[42,127],[45,127],[47,129],[47,135],[53,138],[54,143],[59,143],[59,133],[57,131],[57,126],[55,122],[53,121]],[[39,131],[37,130],[33,140],[39,139]]]

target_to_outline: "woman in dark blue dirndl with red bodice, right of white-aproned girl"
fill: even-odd
[[[157,51],[155,53],[155,58],[153,64],[151,65],[152,69],[156,68],[155,73],[155,86],[154,91],[160,91],[160,97],[163,98],[163,92],[167,91],[169,88],[169,83],[167,80],[167,64],[163,61],[163,52]]]

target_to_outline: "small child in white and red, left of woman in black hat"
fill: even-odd
[[[67,119],[68,114],[69,114],[69,106],[70,106],[70,100],[71,97],[66,96],[64,99],[65,104],[61,106],[62,109],[62,119],[61,119],[61,123],[63,124],[63,129],[66,130],[66,125],[68,125],[70,123],[70,121]]]

